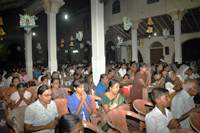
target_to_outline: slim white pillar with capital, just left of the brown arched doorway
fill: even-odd
[[[142,20],[134,19],[131,21],[133,26],[131,28],[131,41],[132,41],[132,61],[138,62],[138,49],[137,49],[137,29]]]

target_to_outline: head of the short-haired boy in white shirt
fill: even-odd
[[[164,88],[154,88],[151,92],[151,98],[157,106],[161,106],[163,108],[170,106],[170,98],[169,91]]]

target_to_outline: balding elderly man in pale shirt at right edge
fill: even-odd
[[[193,97],[198,93],[199,85],[196,80],[188,79],[183,84],[183,90],[178,92],[172,100],[171,111],[174,118],[177,118],[182,128],[192,130],[189,122],[189,115],[192,112],[199,112],[200,107],[195,108]]]

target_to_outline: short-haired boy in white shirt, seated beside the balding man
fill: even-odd
[[[167,109],[170,106],[169,91],[164,88],[154,88],[151,98],[156,106],[145,117],[146,132],[170,133],[172,129],[180,128],[180,124],[173,119],[172,113]]]

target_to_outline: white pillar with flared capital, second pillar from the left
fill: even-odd
[[[40,4],[47,14],[48,66],[52,73],[57,71],[56,14],[65,3],[63,0],[43,0]]]

